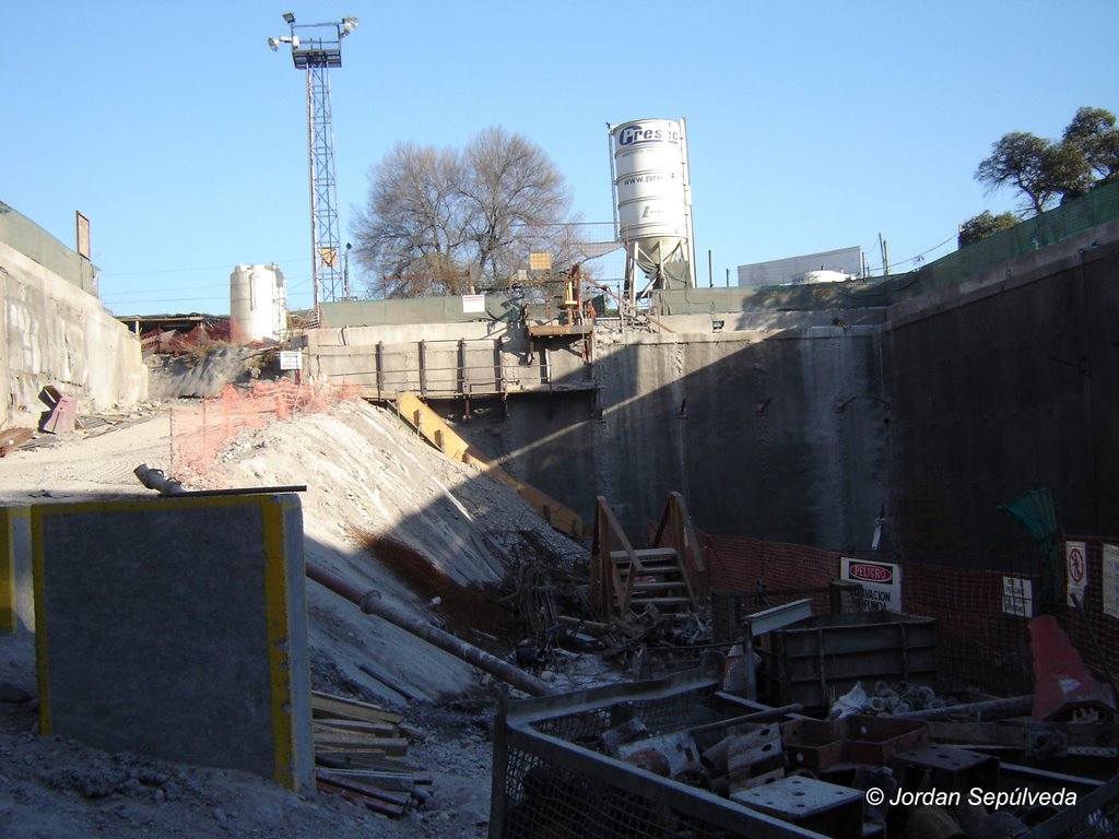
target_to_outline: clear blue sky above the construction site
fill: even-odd
[[[1015,207],[972,178],[998,138],[1119,112],[1115,0],[6,0],[0,200],[69,246],[86,215],[115,314],[227,313],[237,263],[310,305],[305,75],[266,46],[284,11],[360,21],[330,75],[344,241],[397,142],[500,125],[610,221],[606,123],[683,116],[700,285],[708,251],[715,285],[850,245],[881,268],[880,234],[894,270],[933,260]]]

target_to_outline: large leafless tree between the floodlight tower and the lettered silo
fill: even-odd
[[[399,144],[369,180],[354,233],[374,295],[504,287],[534,251],[573,258],[563,176],[539,147],[500,128],[462,151]]]

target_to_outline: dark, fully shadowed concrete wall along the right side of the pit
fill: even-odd
[[[1035,556],[998,505],[1040,486],[1064,532],[1119,534],[1117,323],[1119,223],[893,307],[888,546]]]

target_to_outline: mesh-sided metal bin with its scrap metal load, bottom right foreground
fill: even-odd
[[[1119,829],[1119,779],[1101,780],[1113,757],[1098,774],[1057,772],[934,743],[921,719],[734,715],[750,705],[697,673],[517,703],[498,722],[493,765],[507,776],[495,779],[490,835],[528,839],[546,826],[581,839],[624,824],[609,835],[978,839],[1042,824],[1065,836],[1052,824],[1063,820],[1103,839]],[[723,718],[694,722],[711,716]]]

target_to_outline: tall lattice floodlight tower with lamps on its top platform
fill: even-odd
[[[307,136],[311,169],[311,264],[314,266],[313,301],[345,300],[350,296],[338,234],[338,190],[335,183],[335,134],[330,116],[330,67],[342,66],[341,41],[357,28],[357,18],[336,23],[295,23],[284,12],[290,34],[269,38],[276,51],[291,44],[295,69],[307,70]]]

